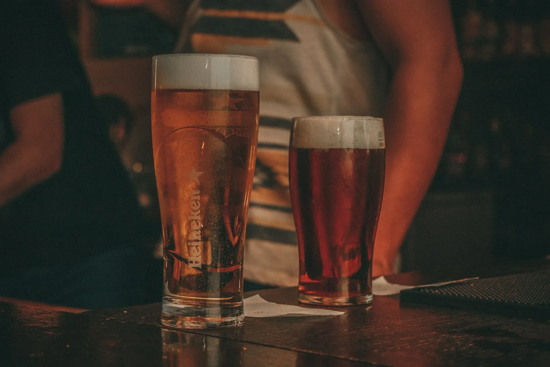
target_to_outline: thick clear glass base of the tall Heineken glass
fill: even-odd
[[[243,304],[232,306],[185,306],[163,300],[161,322],[176,328],[218,328],[242,325]]]

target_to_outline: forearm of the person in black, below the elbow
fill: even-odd
[[[0,207],[59,170],[61,162],[44,161],[41,152],[16,141],[0,154]]]

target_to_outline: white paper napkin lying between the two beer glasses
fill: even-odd
[[[294,305],[283,305],[268,302],[259,294],[244,299],[245,317],[271,317],[271,316],[336,316],[343,312],[324,310],[320,308],[305,308]]]

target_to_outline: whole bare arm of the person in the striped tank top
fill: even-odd
[[[386,183],[373,275],[391,273],[443,150],[462,65],[445,0],[359,0],[393,72],[384,113]]]

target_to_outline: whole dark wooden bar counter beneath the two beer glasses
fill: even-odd
[[[550,261],[468,271],[388,276],[427,284],[550,269]],[[297,304],[296,288],[259,293]],[[5,302],[8,301],[8,302]],[[161,304],[56,310],[0,302],[0,366],[548,366],[550,321],[375,296],[370,308],[339,316],[247,317],[242,327],[175,331],[160,324]]]

